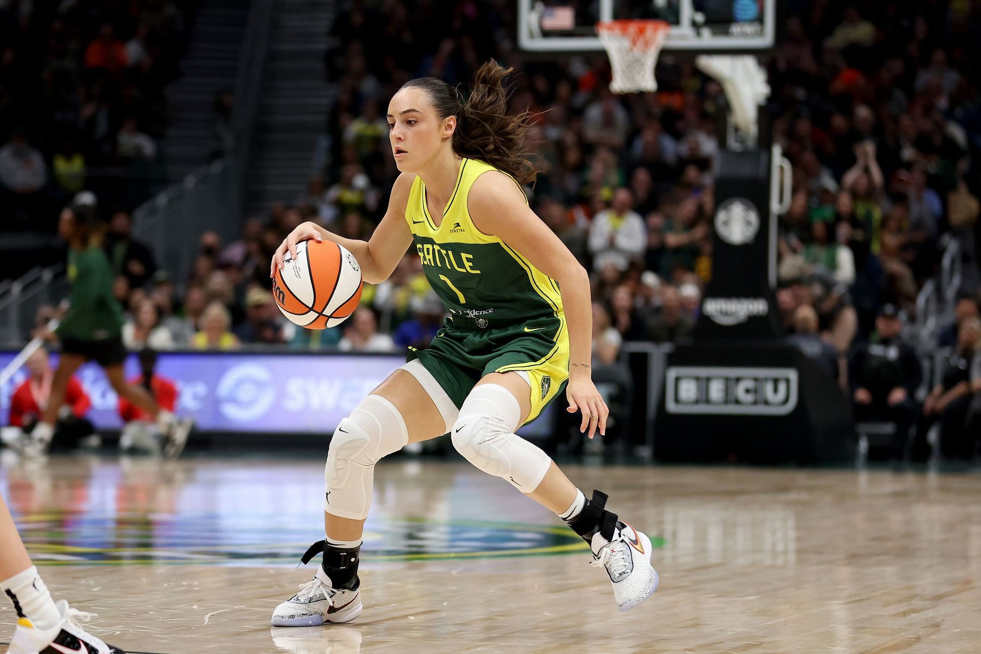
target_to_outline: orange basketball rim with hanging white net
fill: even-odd
[[[596,24],[613,70],[614,93],[656,91],[654,65],[671,30],[665,21],[602,21]]]

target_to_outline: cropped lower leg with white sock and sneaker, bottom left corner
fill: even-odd
[[[126,654],[75,624],[76,617],[87,620],[87,614],[69,609],[65,600],[56,604],[51,599],[44,580],[27,556],[3,497],[0,497],[0,590],[14,602],[18,617],[8,654]]]

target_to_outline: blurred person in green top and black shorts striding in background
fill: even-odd
[[[167,439],[165,451],[177,456],[187,441],[189,421],[179,421],[169,411],[161,411],[145,389],[127,383],[123,376],[127,356],[122,338],[123,308],[113,297],[112,268],[102,251],[100,226],[87,207],[69,207],[62,211],[58,233],[69,244],[68,278],[72,282],[68,312],[56,329],[61,356],[44,414],[30,435],[16,444],[18,449],[27,455],[47,450],[68,380],[83,363],[94,360],[120,397],[158,420]]]

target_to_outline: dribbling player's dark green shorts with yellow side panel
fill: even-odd
[[[487,327],[480,327],[481,323]],[[531,385],[525,424],[539,417],[569,378],[569,333],[565,316],[544,316],[503,327],[481,319],[447,318],[432,345],[409,348],[408,361],[419,359],[457,408],[481,378],[490,373],[524,371]]]

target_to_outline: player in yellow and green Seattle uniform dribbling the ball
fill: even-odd
[[[528,207],[519,183],[536,176],[528,161],[527,113],[508,115],[510,72],[496,62],[477,73],[470,98],[434,77],[407,82],[388,105],[389,141],[401,175],[388,210],[367,242],[306,223],[273,257],[271,272],[296,243],[328,239],[346,247],[364,280],[379,283],[414,244],[426,277],[450,314],[430,349],[382,382],[340,422],[327,458],[327,539],[313,580],[280,604],[275,626],[345,623],[361,613],[357,568],[372,499],[375,464],[406,443],[452,433],[477,468],[503,478],[558,514],[605,566],[620,610],[657,587],[650,540],[587,500],[555,464],[515,429],[535,420],[568,383],[567,411],[581,430],[605,432],[608,409],[590,377],[590,280],[562,242]]]

